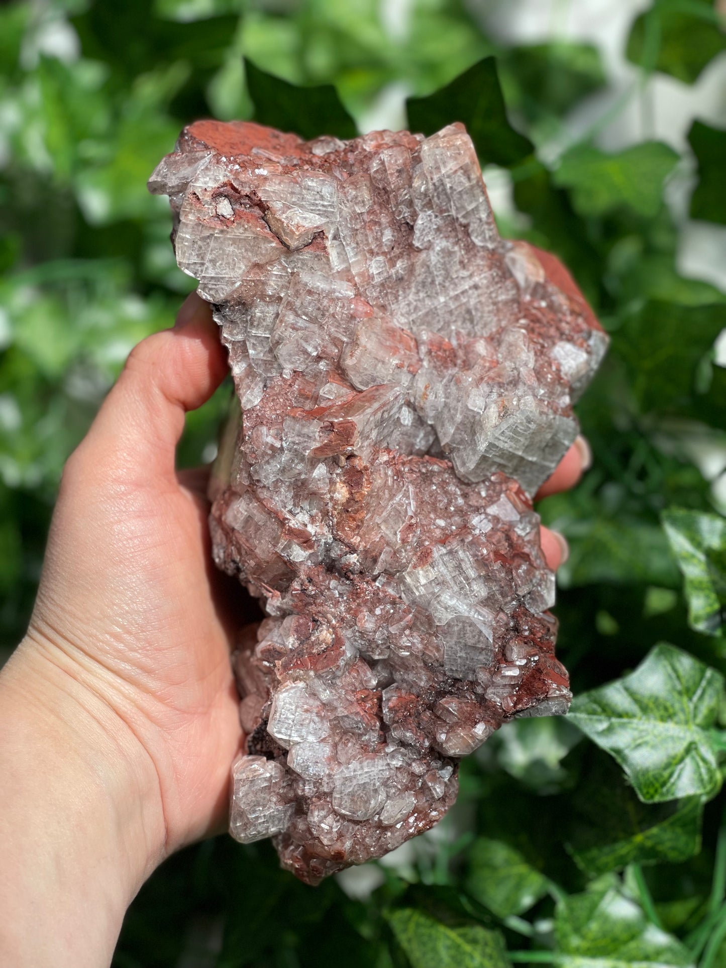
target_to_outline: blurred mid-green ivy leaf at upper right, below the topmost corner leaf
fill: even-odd
[[[679,162],[661,141],[645,141],[608,155],[591,145],[564,154],[553,179],[570,190],[581,215],[605,215],[625,207],[652,218],[662,203],[663,182]]]

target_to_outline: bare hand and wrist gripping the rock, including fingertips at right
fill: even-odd
[[[211,564],[205,471],[174,469],[185,412],[226,373],[192,295],[132,351],[64,469],[30,626],[0,673],[0,964],[107,965],[143,881],[227,825],[247,601]],[[588,462],[578,440],[540,494]],[[558,567],[564,539],[542,529],[542,547]]]

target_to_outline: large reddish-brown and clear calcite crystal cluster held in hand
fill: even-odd
[[[233,656],[230,831],[317,883],[435,824],[459,758],[567,710],[531,497],[606,337],[499,238],[473,145],[201,121],[150,180],[237,393],[217,564],[267,618]]]

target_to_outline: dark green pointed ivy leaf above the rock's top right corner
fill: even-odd
[[[412,132],[433,135],[462,121],[482,165],[515,165],[534,151],[529,138],[507,120],[494,57],[485,57],[427,98],[408,98],[406,107]]]

